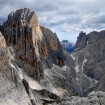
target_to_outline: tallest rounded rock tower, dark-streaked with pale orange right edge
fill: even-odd
[[[7,45],[14,47],[16,60],[27,68],[26,72],[30,76],[38,80],[43,77],[43,70],[39,63],[43,34],[35,13],[27,8],[12,12],[2,27]]]

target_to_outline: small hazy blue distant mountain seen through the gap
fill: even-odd
[[[74,50],[74,43],[68,41],[68,40],[63,40],[61,41],[61,45],[63,46],[64,49],[66,49],[69,53],[71,53]]]

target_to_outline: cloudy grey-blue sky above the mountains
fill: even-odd
[[[25,7],[33,9],[40,24],[60,40],[75,42],[80,31],[105,29],[105,0],[0,0],[0,22],[11,11]]]

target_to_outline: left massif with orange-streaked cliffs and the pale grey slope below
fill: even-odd
[[[22,69],[42,85],[51,87],[48,91],[52,92],[53,88],[57,90],[54,94],[82,94],[73,68],[74,61],[63,51],[55,33],[45,27],[40,29],[33,11],[25,8],[12,12],[2,30],[9,52],[14,53],[13,66]],[[23,77],[20,73],[20,78]]]

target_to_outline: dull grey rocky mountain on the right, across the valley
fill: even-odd
[[[96,85],[92,84],[98,83],[95,90],[105,91],[103,83],[105,79],[105,31],[94,31],[88,35],[83,35],[82,38],[84,41],[77,40],[77,43],[81,43],[83,46],[85,45],[84,48],[80,49],[79,44],[77,44],[75,51],[72,53],[76,61],[75,69],[77,74],[84,75],[87,78],[87,87],[95,88]],[[81,81],[83,80],[81,78]]]

